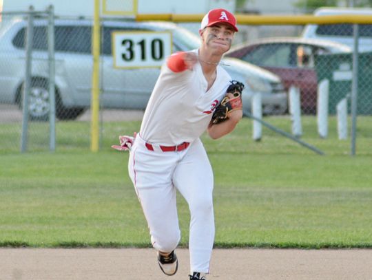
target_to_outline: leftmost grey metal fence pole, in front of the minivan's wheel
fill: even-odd
[[[34,36],[34,7],[30,6],[28,14],[28,26],[25,45],[25,83],[23,85],[23,111],[22,111],[22,136],[21,152],[27,150],[28,142],[28,98],[31,85],[31,67],[32,67],[32,37]]]

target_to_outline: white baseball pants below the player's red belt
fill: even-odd
[[[213,171],[200,139],[183,151],[149,151],[137,135],[128,169],[149,226],[152,245],[172,252],[180,241],[176,189],[190,211],[190,271],[209,273],[214,244]]]

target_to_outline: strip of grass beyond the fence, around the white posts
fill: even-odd
[[[289,116],[265,117],[271,125],[291,133],[291,120]],[[349,119],[349,129],[351,127]],[[118,143],[118,135],[132,134],[138,131],[141,122],[102,122],[101,124],[101,151],[110,151],[113,143]],[[28,151],[45,152],[49,147],[48,122],[31,122],[28,133]],[[302,154],[312,155],[313,151],[302,147],[297,142],[280,136],[278,133],[263,127],[262,140],[255,142],[251,138],[252,122],[244,118],[237,129],[229,137],[218,141],[203,136],[208,151],[249,153],[249,154]],[[350,155],[351,139],[338,140],[337,120],[329,118],[329,136],[322,139],[318,136],[316,116],[302,116],[301,140],[320,149],[326,155]],[[349,133],[350,134],[350,133]],[[356,138],[356,154],[358,156],[371,156],[372,116],[358,116]],[[0,124],[0,155],[19,152],[21,142],[21,125]],[[90,122],[57,122],[56,149],[65,151],[89,151],[90,149]]]

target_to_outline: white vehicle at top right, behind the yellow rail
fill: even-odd
[[[316,16],[331,16],[337,14],[372,15],[371,8],[319,8],[314,14]],[[302,32],[303,38],[326,39],[354,47],[353,24],[308,24]],[[359,47],[360,52],[372,51],[372,24],[359,25]]]

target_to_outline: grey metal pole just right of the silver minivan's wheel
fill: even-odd
[[[48,59],[49,59],[49,129],[50,151],[56,150],[56,98],[54,86],[54,7],[48,8]]]

